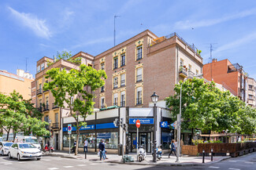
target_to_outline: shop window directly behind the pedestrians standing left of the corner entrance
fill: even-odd
[[[118,144],[118,132],[101,132],[97,133],[97,148],[98,143],[104,140],[106,149],[117,149]]]

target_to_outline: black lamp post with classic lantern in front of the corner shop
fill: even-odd
[[[153,133],[153,136],[154,136],[154,143],[153,143],[153,150],[154,150],[154,153],[153,153],[153,162],[157,162],[157,139],[156,139],[156,131],[157,131],[157,103],[158,103],[158,98],[159,96],[154,92],[154,94],[151,97],[151,100],[152,102],[154,103],[154,107],[153,107],[153,114],[154,114],[154,133]]]

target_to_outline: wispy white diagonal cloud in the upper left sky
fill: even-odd
[[[52,36],[49,28],[46,26],[46,20],[40,20],[31,13],[19,13],[11,7],[8,7],[8,9],[18,22],[34,31],[39,37],[50,38]]]

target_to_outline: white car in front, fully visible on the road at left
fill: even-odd
[[[40,160],[42,153],[41,150],[32,145],[32,143],[13,143],[13,145],[9,147],[8,156],[9,158],[17,157],[18,161],[33,158]]]

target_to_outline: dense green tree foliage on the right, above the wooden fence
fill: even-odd
[[[174,96],[167,97],[166,103],[173,114],[180,111],[180,87],[176,85]],[[214,82],[207,83],[199,78],[183,82],[181,98],[183,128],[198,128],[202,131],[238,132],[251,134],[256,130],[255,110],[247,107],[229,91],[221,92]]]

